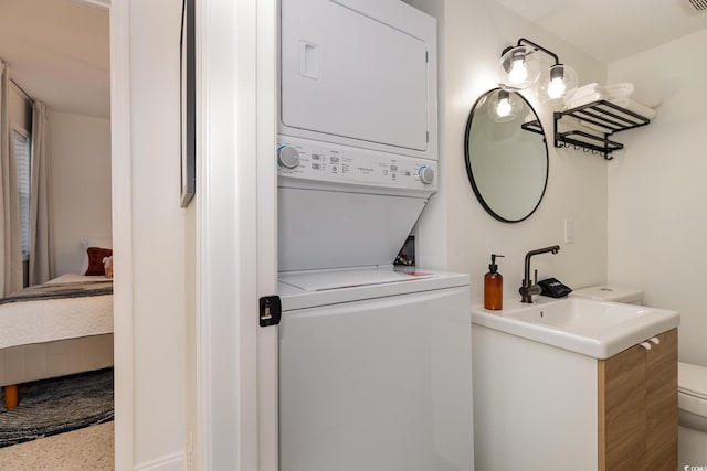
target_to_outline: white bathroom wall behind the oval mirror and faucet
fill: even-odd
[[[528,220],[494,220],[472,191],[464,165],[464,129],[474,100],[494,88],[496,63],[504,47],[519,38],[537,42],[571,64],[581,83],[603,81],[605,66],[489,0],[430,1],[415,6],[439,18],[440,28],[440,192],[420,223],[420,256],[428,267],[471,274],[472,303],[483,302],[483,277],[490,254],[503,254],[504,296],[518,297],[525,254],[559,244],[558,255],[534,258],[538,277],[555,276],[573,288],[606,277],[606,162],[582,151],[549,146],[545,199]],[[525,94],[552,132],[551,110]],[[563,244],[563,220],[576,224],[576,243]],[[425,254],[432,254],[428,256]]]

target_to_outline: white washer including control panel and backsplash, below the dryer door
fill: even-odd
[[[473,470],[468,276],[391,265],[435,162],[282,151],[299,164],[278,189],[281,471]]]

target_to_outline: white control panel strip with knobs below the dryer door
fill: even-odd
[[[400,190],[436,190],[436,161],[279,136],[281,178]]]

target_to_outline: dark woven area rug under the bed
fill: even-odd
[[[113,420],[113,368],[19,385],[20,405],[0,394],[0,448]]]

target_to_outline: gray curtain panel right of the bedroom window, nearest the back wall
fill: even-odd
[[[32,189],[30,192],[30,285],[52,276],[49,221],[49,111],[34,100],[32,109]]]

